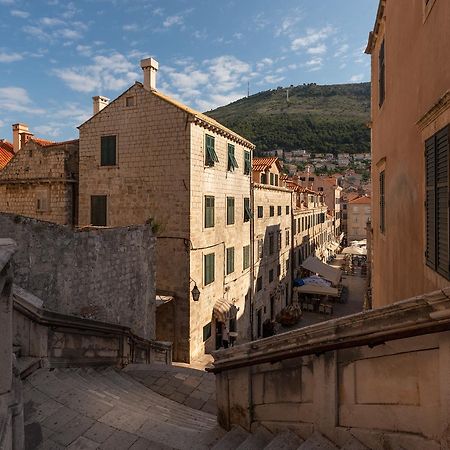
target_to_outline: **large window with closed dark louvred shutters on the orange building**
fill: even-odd
[[[449,131],[438,131],[425,142],[427,266],[450,279],[449,272]]]

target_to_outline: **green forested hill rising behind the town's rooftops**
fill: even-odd
[[[277,88],[205,114],[266,150],[313,153],[370,150],[370,83]]]

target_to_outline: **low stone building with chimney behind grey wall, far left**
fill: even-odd
[[[0,171],[0,211],[74,225],[78,140],[50,142],[13,125],[14,155]]]

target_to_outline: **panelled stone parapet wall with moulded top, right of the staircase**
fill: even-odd
[[[219,423],[448,448],[450,291],[217,352]],[[359,448],[359,447],[358,447]]]

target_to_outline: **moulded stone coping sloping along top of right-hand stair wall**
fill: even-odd
[[[450,330],[450,288],[214,352],[221,372]]]

